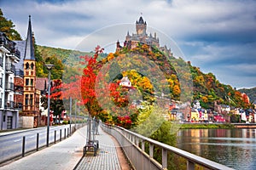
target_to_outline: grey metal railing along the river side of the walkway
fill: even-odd
[[[183,159],[186,160],[188,170],[195,169],[195,165],[207,169],[232,169],[201,156],[195,156],[187,151],[177,149],[168,144],[148,139],[143,135],[133,133],[122,127],[102,124],[102,129],[118,140],[125,155],[131,162],[131,166],[135,169],[167,169],[169,153],[183,157]],[[161,150],[161,162],[154,159],[154,148]]]

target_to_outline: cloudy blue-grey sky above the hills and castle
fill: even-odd
[[[69,49],[84,38],[97,41],[91,35],[102,30],[111,30],[107,42],[122,41],[142,15],[201,71],[233,88],[256,87],[255,0],[0,0],[0,8],[22,38],[31,14],[38,45]]]

